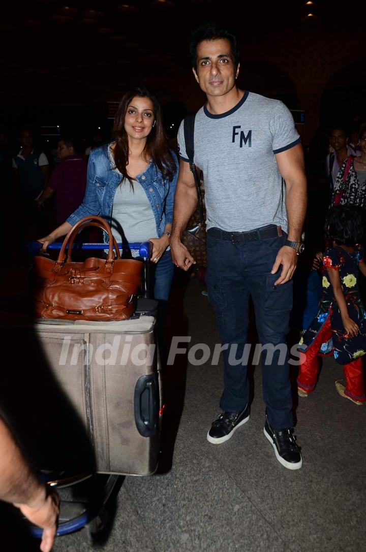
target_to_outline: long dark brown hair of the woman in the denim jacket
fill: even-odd
[[[174,158],[171,151],[168,148],[164,129],[163,121],[161,118],[161,109],[158,100],[150,94],[145,88],[135,88],[124,94],[121,102],[119,102],[116,116],[114,117],[113,124],[113,137],[116,141],[114,146],[114,163],[116,168],[122,174],[123,178],[127,178],[132,185],[132,179],[127,174],[128,164],[128,136],[126,130],[124,130],[124,118],[126,116],[127,108],[133,98],[149,98],[153,102],[153,112],[155,117],[155,125],[151,129],[150,134],[147,136],[147,141],[144,149],[144,155],[150,157],[159,171],[167,176],[169,180],[172,180],[176,171]]]

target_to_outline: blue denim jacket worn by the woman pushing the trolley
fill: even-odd
[[[147,169],[136,177],[150,201],[159,237],[163,235],[165,225],[171,223],[173,218],[178,162],[174,152],[172,155],[176,171],[171,182],[168,177],[161,174],[152,161]],[[80,207],[67,219],[69,224],[74,225],[82,217],[89,215],[99,215],[104,217],[107,222],[111,222],[114,194],[122,178],[118,169],[113,167],[114,162],[109,152],[109,145],[97,147],[90,152],[85,196]]]

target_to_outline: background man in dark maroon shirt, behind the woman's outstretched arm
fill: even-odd
[[[55,218],[57,225],[65,222],[82,203],[86,188],[87,164],[76,151],[76,142],[59,140],[57,155],[60,163],[55,168],[49,186],[37,200],[39,207],[56,192]]]

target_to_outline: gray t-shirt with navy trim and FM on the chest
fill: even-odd
[[[213,115],[203,106],[195,120],[194,161],[205,181],[207,229],[245,232],[276,224],[287,231],[275,153],[299,142],[294,119],[279,100],[245,92],[226,113]],[[178,144],[188,161],[183,123]]]

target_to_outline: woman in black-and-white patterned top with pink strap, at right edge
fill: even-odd
[[[366,125],[359,133],[361,155],[348,157],[339,168],[331,205],[357,205],[366,208]]]

